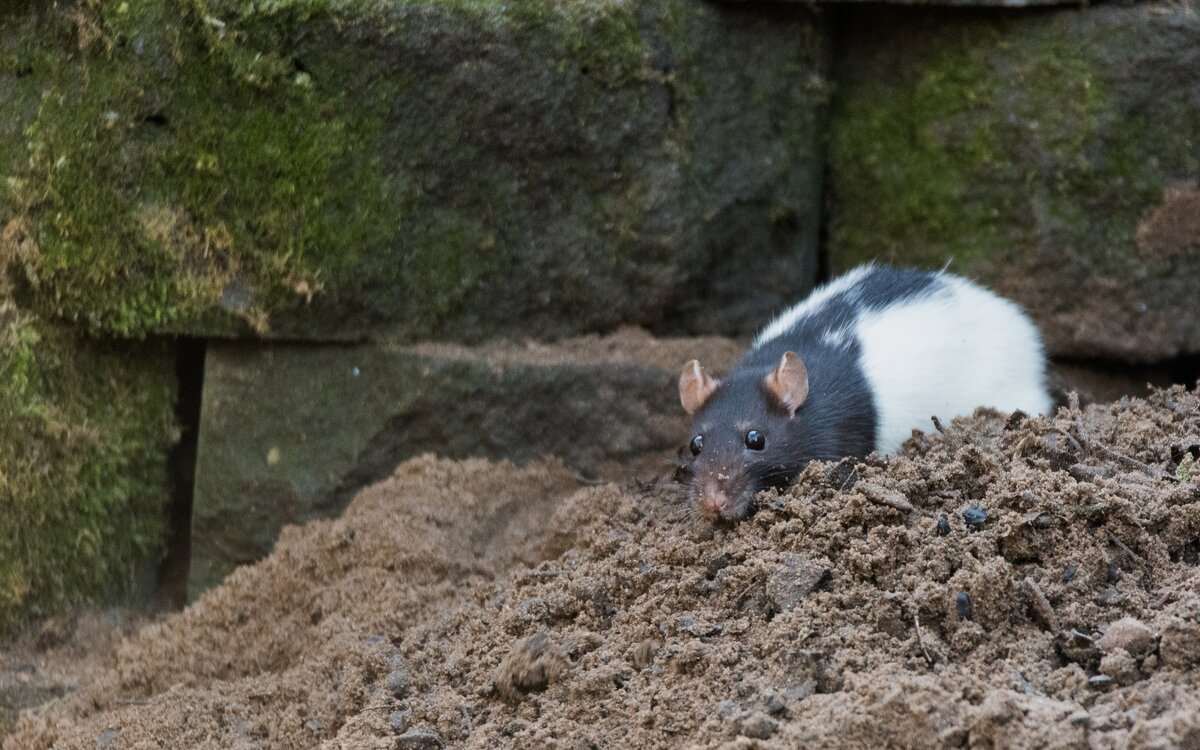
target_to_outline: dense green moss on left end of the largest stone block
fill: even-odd
[[[48,312],[121,336],[262,330],[392,239],[378,110],[222,38],[198,5],[90,12],[59,29],[78,50],[36,54],[47,94],[16,196]]]

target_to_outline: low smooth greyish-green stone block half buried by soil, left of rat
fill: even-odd
[[[677,379],[725,338],[644,334],[558,344],[215,342],[208,349],[192,515],[193,594],[270,552],[280,529],[334,516],[406,458],[526,462],[587,476],[670,474],[686,442]],[[666,455],[664,454],[666,451]]]

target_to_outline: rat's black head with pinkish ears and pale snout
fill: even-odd
[[[745,517],[755,494],[787,485],[799,470],[793,420],[809,395],[809,373],[794,352],[762,377],[739,372],[721,382],[691,360],[679,376],[679,401],[692,415],[691,491],[700,511]]]

